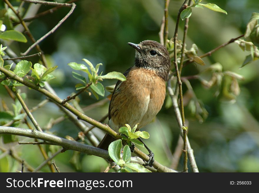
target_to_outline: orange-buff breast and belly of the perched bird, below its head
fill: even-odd
[[[113,93],[109,108],[109,126],[118,131],[129,124],[138,129],[150,123],[160,111],[165,100],[165,80],[154,70],[132,67],[127,80],[121,82]]]

